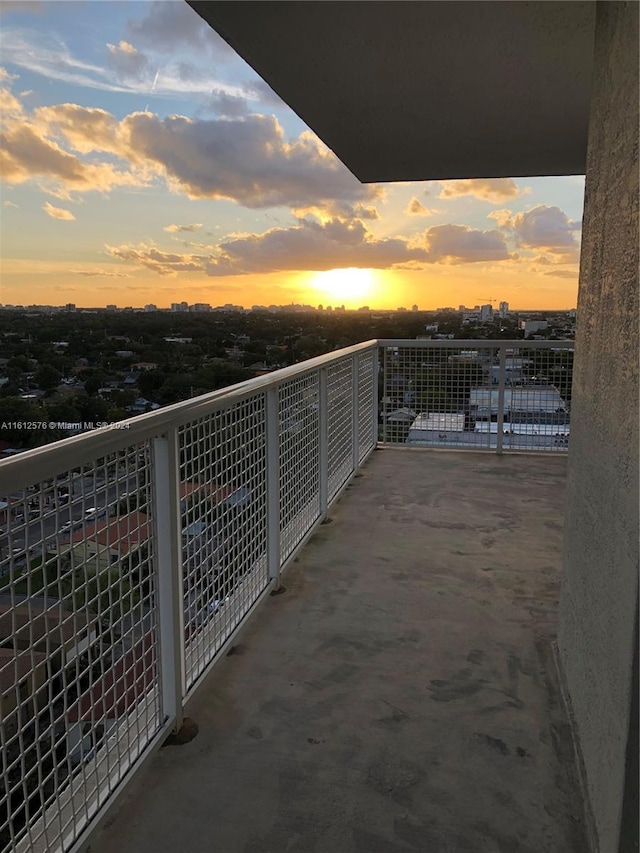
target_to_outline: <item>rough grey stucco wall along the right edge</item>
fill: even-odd
[[[638,594],[638,4],[600,2],[558,645],[600,853],[617,853]]]

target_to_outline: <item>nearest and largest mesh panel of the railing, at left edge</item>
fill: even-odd
[[[0,850],[53,851],[162,723],[151,447],[4,497]]]

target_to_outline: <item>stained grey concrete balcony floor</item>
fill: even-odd
[[[92,853],[584,853],[566,458],[375,453]]]

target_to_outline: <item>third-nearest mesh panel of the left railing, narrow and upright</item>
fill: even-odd
[[[318,371],[279,387],[282,563],[320,517],[319,399]]]

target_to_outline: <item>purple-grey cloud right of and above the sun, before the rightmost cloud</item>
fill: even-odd
[[[425,235],[430,263],[469,264],[512,259],[500,231],[466,225],[435,225]]]

